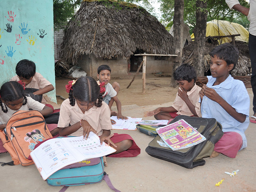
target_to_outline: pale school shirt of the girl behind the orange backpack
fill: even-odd
[[[3,103],[3,106],[5,107],[4,103]],[[37,111],[42,111],[44,106],[45,106],[44,104],[42,104],[36,100],[33,100],[31,97],[27,97],[26,105],[22,105],[19,110],[29,111],[29,109],[33,109],[33,110],[37,110]],[[4,113],[2,108],[0,110],[0,121],[2,122],[2,124],[7,123],[7,121],[11,118],[12,114],[14,112],[16,112],[16,111],[10,109],[9,107],[7,107],[7,109],[8,109],[7,113]]]

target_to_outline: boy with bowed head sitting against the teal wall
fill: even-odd
[[[33,92],[32,94],[36,96],[43,95],[44,93],[54,90],[53,85],[40,73],[36,72],[36,65],[33,61],[27,59],[20,60],[16,65],[16,74],[16,76],[12,77],[11,81],[24,82],[26,88],[25,92]],[[39,97],[35,97],[35,100],[46,104],[46,100],[44,98],[40,101]],[[47,105],[53,109],[52,105]]]

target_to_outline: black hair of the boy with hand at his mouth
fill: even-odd
[[[196,83],[196,69],[192,65],[182,64],[174,71],[173,78],[175,81],[187,80],[188,82],[194,79]]]

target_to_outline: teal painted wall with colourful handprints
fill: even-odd
[[[54,86],[47,93],[56,102],[53,1],[1,0],[0,5],[0,84],[16,75],[16,64],[28,59]]]

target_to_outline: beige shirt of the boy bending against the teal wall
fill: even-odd
[[[10,81],[20,81],[19,77],[16,75],[12,77]],[[32,77],[32,81],[25,86],[25,88],[35,88],[35,89],[43,89],[44,87],[51,85],[51,83],[45,79],[40,73],[37,73]],[[46,104],[46,100],[42,99],[42,102]]]

